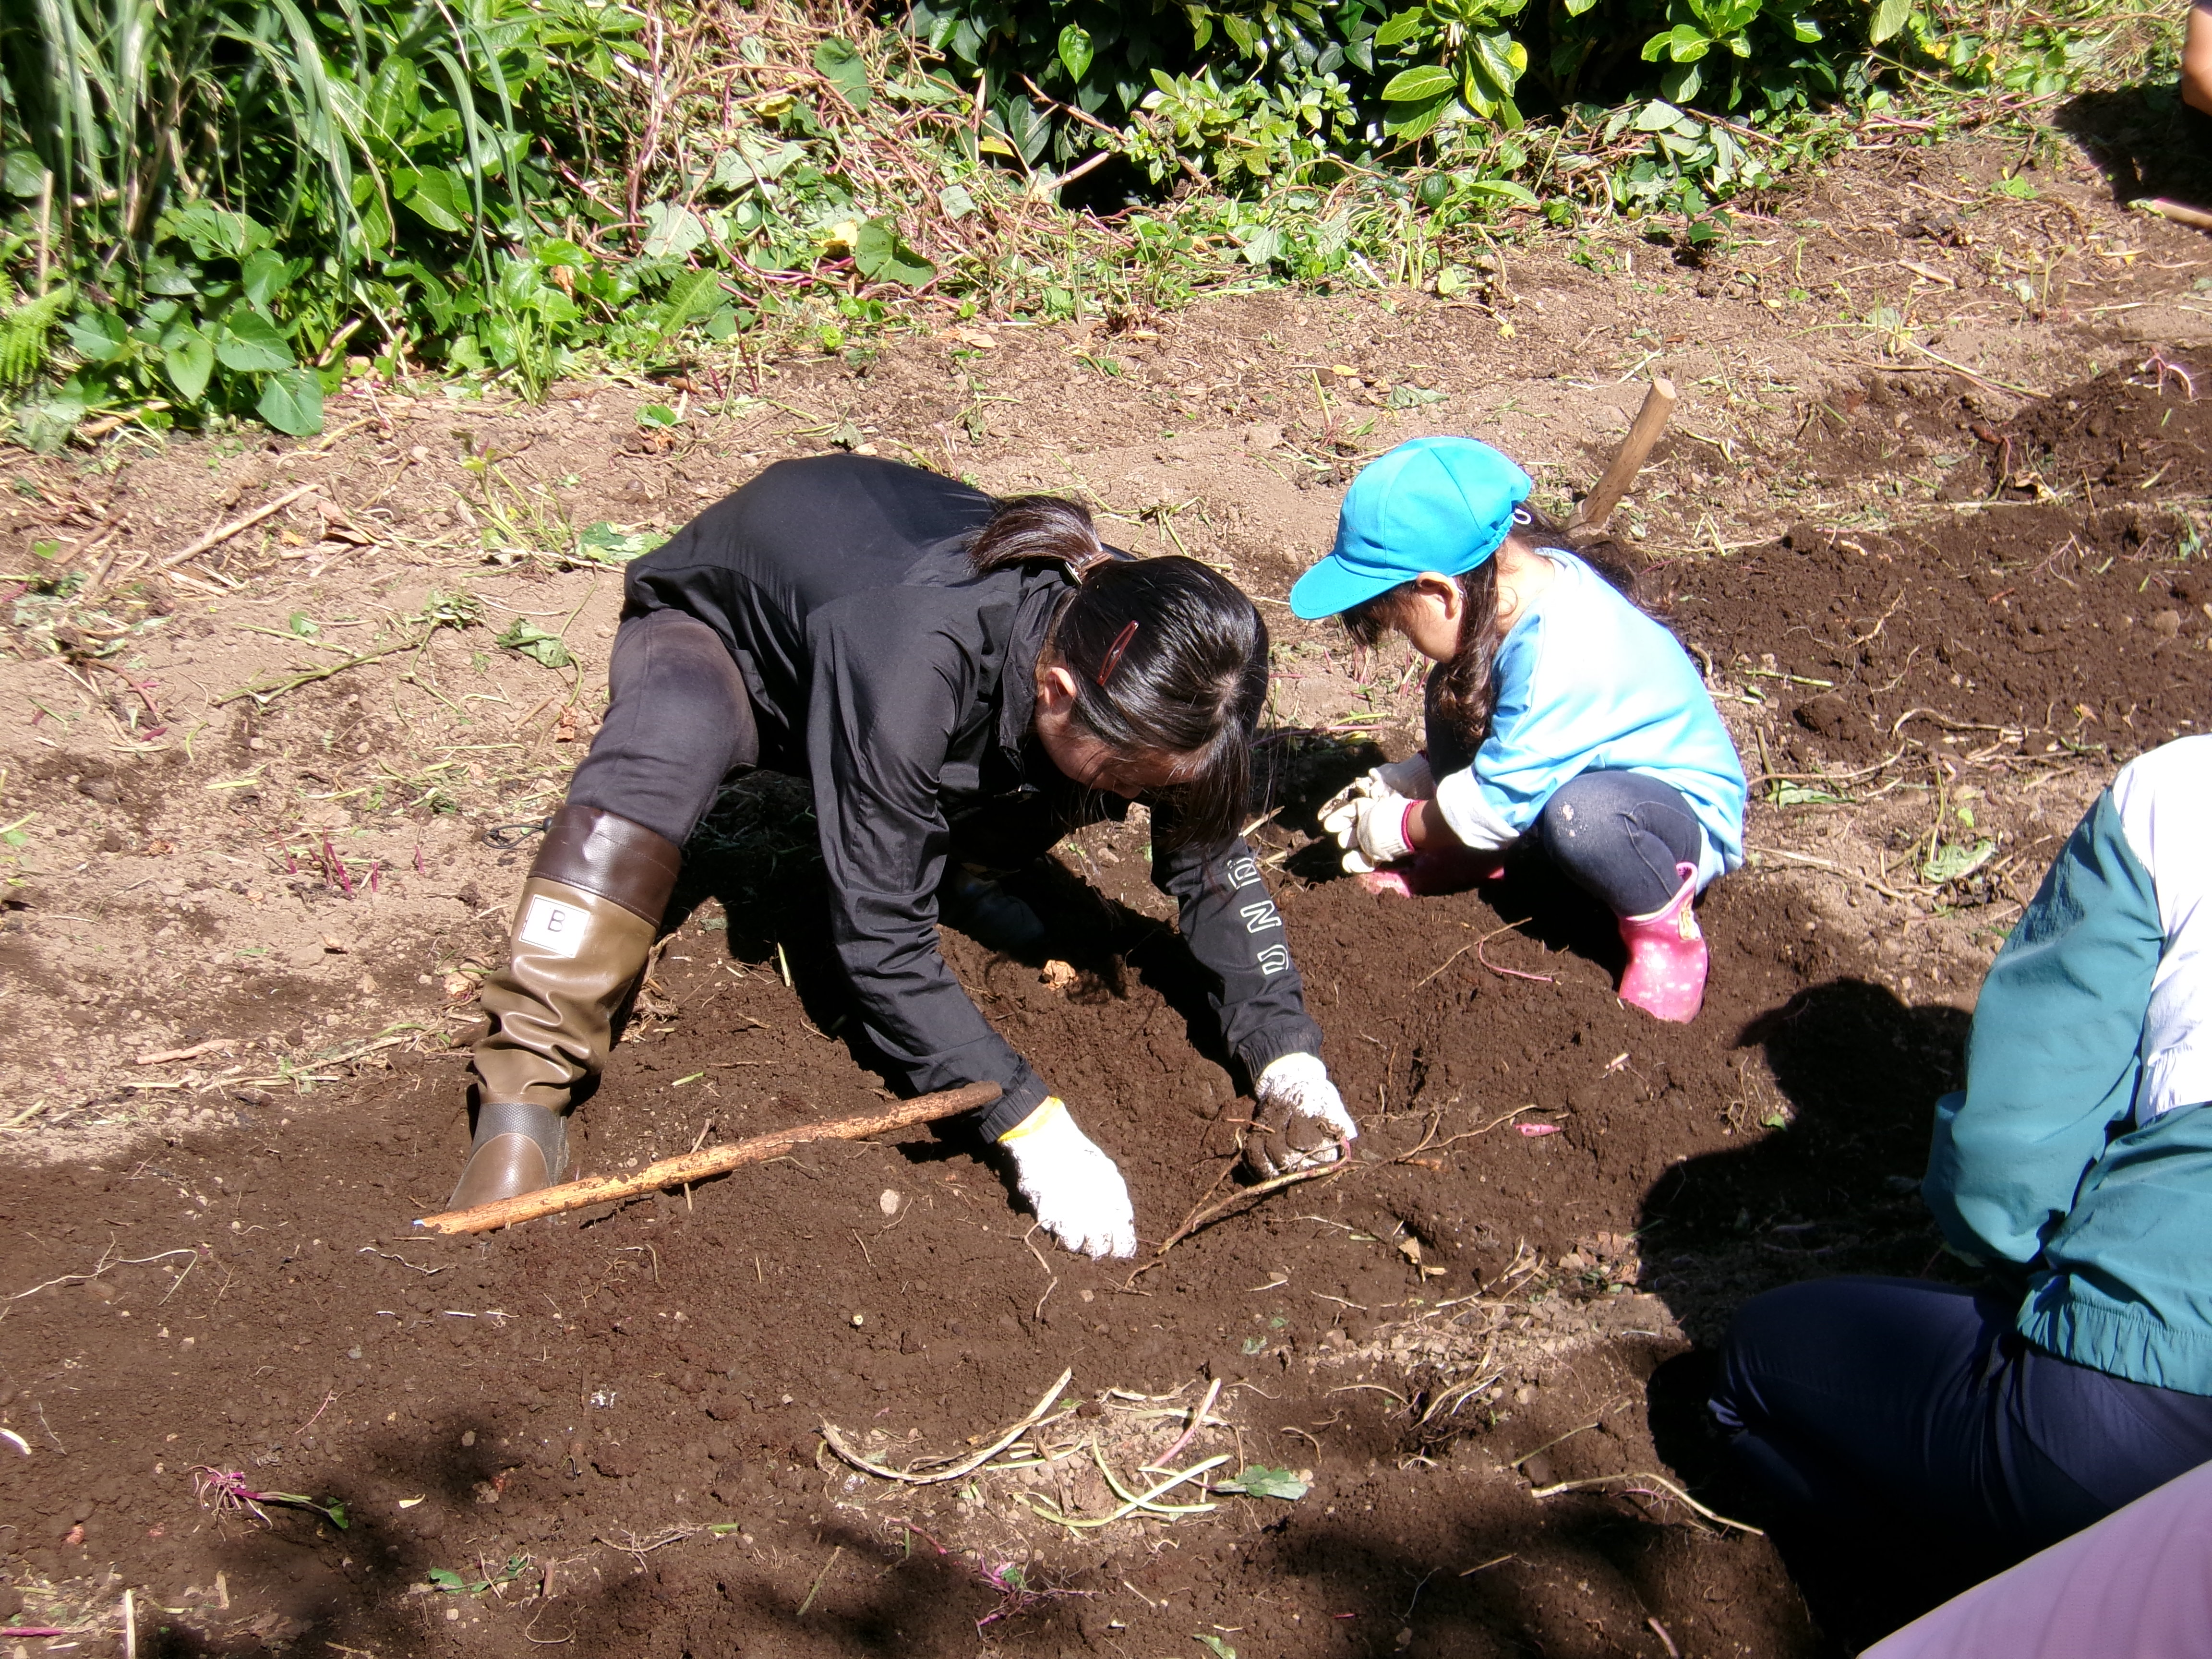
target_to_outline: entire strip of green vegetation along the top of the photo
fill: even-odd
[[[1694,248],[1840,139],[1820,106],[1885,75],[2046,95],[2115,27],[2013,4],[914,0],[902,31],[799,0],[0,4],[0,409],[51,447],[88,418],[310,434],[349,374],[535,398],[619,363],[728,396],[763,332],[1464,292],[1506,210],[1674,215]],[[1113,157],[1150,199],[1064,208]]]

